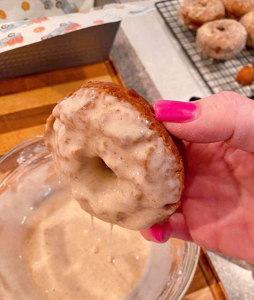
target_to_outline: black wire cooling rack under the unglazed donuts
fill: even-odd
[[[241,53],[227,60],[210,59],[197,49],[195,43],[196,32],[181,26],[178,22],[177,8],[180,2],[180,0],[166,0],[157,2],[155,5],[212,93],[228,90],[247,97],[253,97],[254,83],[242,86],[235,78],[244,65],[253,64],[254,49],[245,48]]]

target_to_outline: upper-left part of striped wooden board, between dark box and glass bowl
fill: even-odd
[[[0,80],[0,155],[44,132],[58,101],[88,81],[122,84],[112,62]]]

